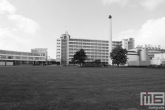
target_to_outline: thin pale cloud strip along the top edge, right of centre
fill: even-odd
[[[118,3],[122,6],[143,6],[145,9],[153,10],[160,4],[165,3],[165,0],[102,0],[103,4]]]

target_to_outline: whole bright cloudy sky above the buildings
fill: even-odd
[[[0,49],[30,52],[48,48],[56,58],[56,39],[135,38],[137,45],[165,49],[165,0],[0,0]],[[67,27],[67,28],[66,28]]]

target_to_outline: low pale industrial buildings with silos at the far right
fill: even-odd
[[[160,46],[158,46],[160,47]],[[135,48],[130,49],[127,54],[128,66],[149,66],[165,64],[164,49],[160,48]]]

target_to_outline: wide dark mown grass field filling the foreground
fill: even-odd
[[[165,92],[165,69],[0,67],[0,110],[148,110],[146,91]]]

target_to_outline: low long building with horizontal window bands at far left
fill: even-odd
[[[46,54],[0,50],[0,65],[43,64]]]

